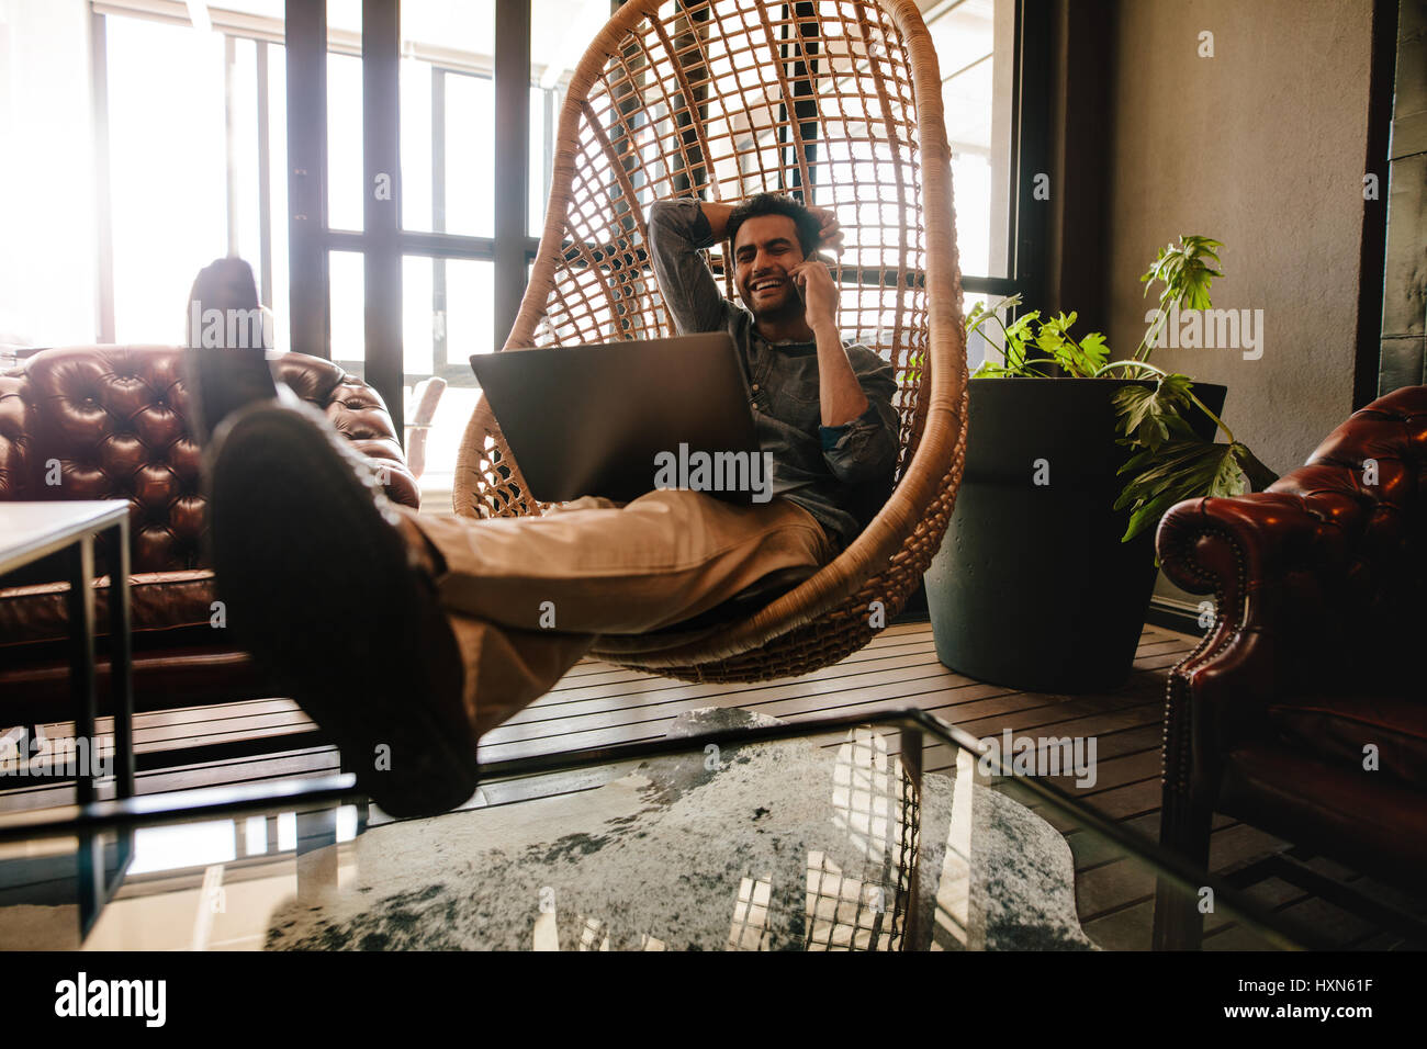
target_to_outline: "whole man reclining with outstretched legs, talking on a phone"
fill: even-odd
[[[723,237],[746,310],[719,295],[698,254]],[[469,798],[481,734],[547,692],[596,635],[659,629],[769,577],[811,575],[866,524],[869,494],[888,491],[895,381],[838,335],[836,287],[811,257],[841,244],[831,216],[773,196],[662,201],[649,243],[679,330],[735,337],[772,452],[768,502],[656,490],[541,518],[418,517],[381,497],[315,412],[248,404],[214,434],[228,622],[392,815]],[[213,385],[211,360],[193,374]],[[207,388],[200,400],[217,402]]]

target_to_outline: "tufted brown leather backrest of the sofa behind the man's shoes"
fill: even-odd
[[[0,500],[116,500],[131,505],[133,571],[204,567],[200,450],[188,425],[183,348],[44,350],[0,375]],[[331,361],[284,354],[277,378],[323,410],[387,492],[420,505],[381,395]],[[103,571],[103,568],[101,568]]]

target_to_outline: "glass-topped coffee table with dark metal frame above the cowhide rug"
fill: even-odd
[[[1015,772],[923,711],[711,709],[655,742],[487,765],[465,808],[428,819],[384,819],[350,775],[13,814],[0,949],[1124,946],[1114,922],[1082,926],[1077,896],[1103,889],[1077,871],[1110,871],[1097,885],[1142,923],[1157,901],[1202,915],[1207,945],[1304,946]]]

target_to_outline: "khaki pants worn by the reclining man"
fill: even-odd
[[[401,510],[445,561],[437,585],[482,734],[548,692],[599,634],[642,634],[728,601],[833,548],[783,498],[738,507],[662,490],[586,497],[539,518],[465,521]]]

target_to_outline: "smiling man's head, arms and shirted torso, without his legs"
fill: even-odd
[[[729,303],[701,248],[728,240]],[[665,200],[649,210],[664,301],[682,334],[728,331],[748,381],[772,494],[812,514],[838,549],[890,491],[898,454],[892,365],[838,331],[838,285],[819,248],[841,248],[828,211],[765,193],[739,204]]]

